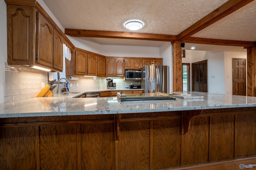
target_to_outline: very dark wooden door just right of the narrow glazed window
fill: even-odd
[[[192,63],[192,91],[208,92],[207,60]]]

